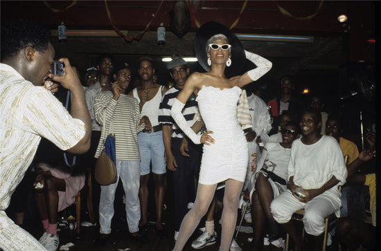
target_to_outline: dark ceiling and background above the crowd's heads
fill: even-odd
[[[197,21],[218,21],[233,32],[259,35],[302,35],[313,37],[311,43],[287,41],[241,40],[246,50],[258,53],[273,63],[272,70],[258,82],[268,100],[277,94],[279,80],[293,75],[297,93],[309,88],[336,106],[339,95],[357,88],[346,84],[342,68],[362,61],[375,62],[375,1],[180,1],[190,10],[190,29],[184,37],[170,31],[170,12],[178,1],[1,1],[1,23],[26,18],[52,29],[56,34],[61,21],[67,26],[64,44],[54,39],[57,57],[69,57],[82,71],[95,64],[100,53],[112,53],[118,62],[136,66],[139,57],[154,57],[161,82],[167,81],[161,57],[194,56],[193,43]],[[107,8],[110,16],[107,16]],[[346,14],[348,21],[339,24],[337,16]],[[157,44],[157,27],[166,27],[166,44]],[[149,25],[148,25],[149,24]],[[113,26],[114,25],[114,26]],[[114,29],[137,36],[125,41]],[[107,30],[112,35],[100,35]],[[84,35],[85,32],[96,33]],[[126,33],[125,33],[126,34]],[[197,62],[192,71],[202,71]],[[299,95],[301,99],[306,99]]]

